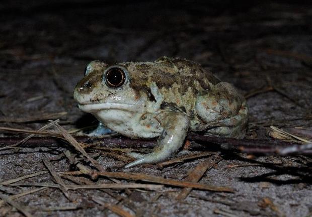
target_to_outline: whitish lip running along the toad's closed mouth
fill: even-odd
[[[78,104],[78,107],[87,113],[96,113],[102,110],[124,110],[128,112],[137,111],[138,106],[136,104],[105,102],[97,104]]]

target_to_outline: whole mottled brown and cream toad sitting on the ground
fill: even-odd
[[[73,97],[83,112],[100,121],[95,136],[112,131],[133,139],[158,138],[150,153],[130,152],[136,160],[124,168],[172,158],[188,132],[244,138],[248,123],[248,105],[239,90],[183,58],[92,61]]]

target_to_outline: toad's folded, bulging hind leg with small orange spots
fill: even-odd
[[[205,131],[209,136],[244,138],[248,105],[229,83],[220,82],[211,92],[198,95],[196,112],[207,124],[195,125],[192,131]]]

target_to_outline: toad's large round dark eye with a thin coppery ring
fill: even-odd
[[[120,87],[126,80],[126,74],[119,67],[111,67],[104,73],[104,79],[110,87]]]

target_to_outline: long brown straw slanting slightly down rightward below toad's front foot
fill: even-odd
[[[179,186],[179,187],[191,187],[202,190],[210,190],[210,191],[223,191],[223,192],[233,192],[234,190],[229,187],[220,187],[214,185],[200,184],[188,181],[180,181],[175,179],[166,179],[158,176],[146,175],[142,173],[125,173],[125,172],[98,172],[98,175],[109,177],[109,178],[121,178],[128,179],[134,181],[147,181],[158,184],[165,184],[171,186]]]

